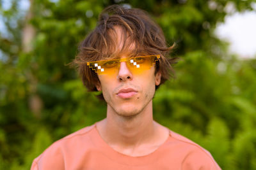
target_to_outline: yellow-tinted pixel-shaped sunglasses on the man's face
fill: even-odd
[[[160,55],[147,55],[140,57],[128,57],[122,59],[111,59],[111,60],[98,60],[87,62],[87,66],[92,68],[95,73],[101,74],[115,74],[120,68],[120,62],[125,62],[128,69],[133,74],[140,74],[143,71],[150,69],[156,61],[160,58]]]

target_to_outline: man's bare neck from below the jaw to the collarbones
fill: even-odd
[[[102,121],[102,127],[102,138],[109,145],[135,148],[142,143],[150,143],[156,133],[152,101],[143,111],[130,117],[118,115],[108,106],[107,118]]]

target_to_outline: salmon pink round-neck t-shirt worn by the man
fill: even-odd
[[[154,152],[140,157],[124,155],[113,150],[100,137],[94,124],[49,146],[31,166],[31,170],[43,169],[215,170],[220,167],[207,150],[172,131]]]

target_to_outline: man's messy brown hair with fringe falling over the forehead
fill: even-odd
[[[116,44],[116,27],[122,29],[121,50]],[[161,55],[156,62],[156,73],[160,71],[161,83],[173,76],[172,64],[176,60],[167,58],[173,45],[166,45],[159,25],[149,17],[146,11],[115,4],[100,13],[96,28],[81,42],[79,53],[73,62],[78,66],[79,74],[89,91],[97,91],[95,85],[99,84],[99,78],[86,63],[118,57],[120,53],[129,51],[132,44],[136,46],[136,49],[130,52],[132,56]]]

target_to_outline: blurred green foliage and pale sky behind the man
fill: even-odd
[[[230,24],[255,13],[253,0],[0,0],[0,169],[29,169],[51,143],[106,117],[67,64],[110,4],[148,11],[177,43],[176,78],[157,90],[155,120],[222,169],[256,169],[255,15]],[[252,41],[234,45],[232,32]]]

